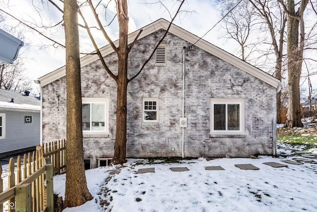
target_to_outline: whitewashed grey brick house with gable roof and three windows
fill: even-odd
[[[168,24],[159,19],[142,28],[129,54],[129,78]],[[129,34],[129,43],[138,32]],[[116,73],[117,56],[110,45],[100,50]],[[106,165],[114,150],[116,84],[96,54],[81,58],[81,67],[84,157],[91,167]],[[39,80],[43,142],[65,139],[65,67]],[[128,84],[127,157],[275,154],[279,82],[173,24],[155,56]]]

